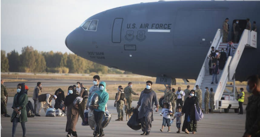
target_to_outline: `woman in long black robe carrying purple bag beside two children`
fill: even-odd
[[[194,104],[196,104],[198,110],[198,98],[195,96],[195,94],[195,90],[190,91],[190,95],[187,99],[185,99],[182,109],[182,114],[185,113],[182,131],[187,134],[189,134],[189,132],[192,132],[192,134],[197,132],[197,121],[195,119]]]

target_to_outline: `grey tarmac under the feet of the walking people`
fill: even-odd
[[[31,97],[29,100],[33,103]],[[9,115],[12,115],[13,97],[8,97],[7,111]],[[54,105],[55,102],[52,102]],[[105,136],[107,137],[133,137],[140,136],[142,130],[135,131],[127,126],[127,121],[115,121],[117,119],[116,108],[114,107],[114,100],[109,100],[108,111],[112,113],[112,120],[107,127],[104,128]],[[137,101],[132,102],[132,106],[136,107]],[[245,109],[245,105],[243,106]],[[176,133],[178,130],[176,128],[175,122],[171,126],[171,132],[167,132],[167,127],[161,132],[162,127],[162,116],[158,112],[154,112],[154,121],[152,122],[152,129],[149,136],[176,136],[176,137],[237,137],[243,136],[245,131],[245,113],[244,115],[237,115],[234,111],[230,110],[229,113],[219,113],[217,110],[213,114],[204,114],[204,118],[198,121],[198,132],[196,134],[186,134],[184,132]],[[245,112],[245,110],[244,110]],[[26,122],[26,137],[65,137],[67,132],[65,132],[66,127],[66,116],[63,117],[45,117],[45,112],[42,109],[40,113],[41,117],[28,118]],[[171,117],[172,118],[172,117]],[[78,137],[91,137],[93,136],[93,130],[89,126],[81,125],[82,119],[79,117],[78,123],[76,125],[76,131]],[[12,136],[12,123],[10,122],[10,117],[1,116],[1,137],[11,137]],[[182,125],[181,125],[182,127]],[[16,137],[22,137],[22,127],[18,123],[16,129]]]

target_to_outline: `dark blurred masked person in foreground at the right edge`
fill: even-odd
[[[253,93],[248,98],[246,106],[245,133],[243,137],[260,136],[260,79],[258,75],[252,75],[247,79],[246,90]]]

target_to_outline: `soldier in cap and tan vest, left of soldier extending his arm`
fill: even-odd
[[[125,92],[123,91],[121,85],[118,86],[118,92],[116,93],[115,104],[118,113],[118,119],[116,119],[115,121],[123,121],[123,108],[124,108],[124,104],[126,106],[126,101],[125,101]]]

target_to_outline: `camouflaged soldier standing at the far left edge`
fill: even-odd
[[[1,79],[1,114],[4,114],[5,117],[10,117],[10,115],[7,114],[6,106],[7,106],[7,89],[4,85],[4,80]]]

